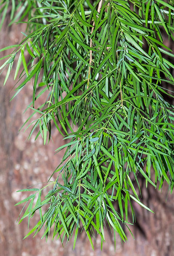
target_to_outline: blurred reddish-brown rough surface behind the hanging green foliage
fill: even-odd
[[[0,48],[16,44],[20,41],[20,31],[24,31],[23,25],[3,26],[1,31]],[[2,53],[1,53],[2,54]],[[62,247],[60,240],[51,240],[47,243],[40,240],[41,234],[32,239],[25,240],[27,234],[27,220],[19,226],[16,220],[21,211],[21,206],[14,207],[18,201],[25,198],[25,193],[16,193],[17,190],[26,188],[33,184],[46,182],[52,171],[58,166],[63,155],[62,152],[54,155],[54,150],[62,144],[61,135],[53,130],[53,141],[43,146],[43,141],[38,138],[34,142],[34,136],[28,142],[28,133],[19,128],[27,119],[29,114],[22,114],[26,106],[31,102],[32,85],[26,86],[17,97],[9,102],[13,95],[13,76],[3,87],[3,76],[1,75],[0,86],[0,252],[3,256],[172,256],[174,255],[174,194],[168,195],[168,187],[164,184],[162,192],[149,186],[146,190],[142,181],[142,202],[150,207],[155,214],[150,213],[138,205],[135,205],[136,224],[131,228],[135,241],[128,234],[128,242],[121,244],[117,238],[116,252],[114,252],[114,234],[106,234],[106,243],[103,250],[100,249],[100,239],[94,242],[94,252],[85,233],[82,232],[73,251],[73,240],[66,247]],[[11,92],[12,90],[12,92]],[[26,117],[27,115],[27,117]],[[37,185],[41,187],[43,184]],[[31,223],[34,225],[39,219],[35,216]]]

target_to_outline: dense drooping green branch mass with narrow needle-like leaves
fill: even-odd
[[[1,26],[8,5],[9,1],[1,1]],[[174,54],[163,37],[174,41],[174,3],[12,1],[11,23],[24,17],[28,19],[24,40],[1,50],[15,48],[1,66],[8,67],[4,84],[19,52],[14,79],[22,66],[19,81],[24,81],[14,96],[33,81],[30,118],[39,114],[29,138],[39,127],[36,139],[41,135],[45,144],[55,125],[66,139],[57,152],[63,148],[66,152],[44,200],[45,187],[20,190],[35,191],[18,203],[31,200],[20,222],[28,217],[29,224],[39,211],[40,220],[27,236],[44,226],[47,237],[53,226],[53,237],[62,243],[74,232],[74,246],[82,225],[92,247],[95,231],[101,243],[105,240],[108,223],[125,241],[120,223],[129,224],[129,211],[134,222],[132,202],[150,210],[139,199],[139,177],[144,177],[146,186],[159,188],[165,180],[173,190],[174,113],[164,97],[169,95],[167,84],[174,85]],[[45,101],[35,109],[41,96]],[[47,206],[44,213],[42,206]]]

